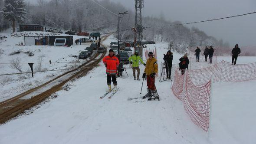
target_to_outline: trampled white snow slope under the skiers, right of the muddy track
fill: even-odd
[[[109,45],[109,37],[103,44]],[[158,63],[163,61],[167,43],[156,46]],[[174,52],[174,63],[181,54]],[[230,59],[223,57],[222,59]],[[240,62],[253,57],[239,57]],[[255,59],[255,57],[254,57]],[[218,59],[220,60],[220,59]],[[255,62],[254,60],[253,62]],[[247,62],[246,62],[247,63]],[[128,97],[141,96],[141,81],[118,78],[119,91],[100,99],[107,90],[105,67],[95,68],[87,76],[70,82],[69,91],[40,105],[30,115],[22,115],[0,125],[2,144],[255,144],[256,80],[213,84],[213,109],[210,133],[202,131],[188,117],[182,102],[171,91],[171,82],[156,80],[161,101],[137,103]],[[144,65],[140,66],[141,75]],[[160,69],[160,65],[159,65]],[[142,95],[146,93],[144,82]]]

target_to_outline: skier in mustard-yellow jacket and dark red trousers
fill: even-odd
[[[144,79],[147,75],[148,93],[144,95],[143,98],[149,97],[150,99],[156,99],[158,98],[158,94],[154,84],[154,79],[156,73],[158,73],[158,62],[157,59],[154,58],[153,52],[149,52],[148,57],[149,58],[146,62],[146,68],[142,76],[142,78]]]

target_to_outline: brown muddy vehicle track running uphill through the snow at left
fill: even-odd
[[[102,36],[102,41],[104,41],[108,36],[109,35]],[[61,90],[62,86],[65,85],[70,80],[85,76],[90,70],[92,70],[94,67],[98,65],[98,63],[102,60],[104,56],[105,56],[105,53],[103,53],[100,57],[99,57],[99,54],[96,53],[92,59],[83,63],[78,68],[75,68],[69,72],[65,72],[64,74],[59,75],[58,77],[50,80],[49,82],[44,83],[43,85],[39,85],[36,88],[32,88],[26,92],[23,92],[20,95],[10,98],[6,101],[0,102],[0,124],[7,122],[11,118],[14,118],[20,113],[24,112],[25,110],[44,101],[47,97],[49,97],[53,93]],[[40,92],[37,95],[33,95],[31,98],[24,98],[27,95],[30,95],[33,92],[39,91],[40,89],[43,89],[46,86],[49,86],[51,83],[56,81],[58,81],[59,83],[57,83],[56,85],[53,85],[51,88],[43,90],[43,92]]]

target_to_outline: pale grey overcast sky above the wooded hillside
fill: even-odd
[[[112,0],[135,10],[134,0]],[[182,23],[256,12],[256,0],[144,0],[143,16],[159,16]],[[230,46],[256,46],[256,14],[197,23],[208,35],[228,41]]]

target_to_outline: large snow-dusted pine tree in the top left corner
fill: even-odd
[[[13,23],[13,33],[15,32],[15,21],[25,22],[25,4],[24,0],[4,0],[4,7],[1,13],[6,20]]]

